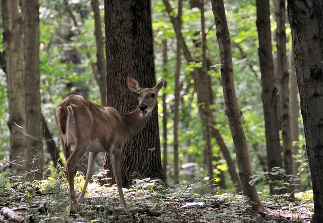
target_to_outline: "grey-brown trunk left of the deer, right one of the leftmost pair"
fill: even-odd
[[[39,4],[38,0],[22,1],[24,21],[24,53],[26,78],[26,129],[27,129],[27,168],[44,167],[44,150],[42,135],[42,114],[40,106],[39,75]],[[41,175],[33,175],[41,179]]]

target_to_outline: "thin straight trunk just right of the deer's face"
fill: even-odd
[[[163,39],[163,73],[166,77],[168,73],[167,65],[168,65],[168,55],[167,55],[167,39]],[[168,118],[168,112],[167,112],[167,103],[166,103],[166,91],[167,88],[167,81],[164,80],[164,91],[163,91],[163,174],[165,179],[167,179],[167,118]]]

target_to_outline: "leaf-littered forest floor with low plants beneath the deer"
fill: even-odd
[[[48,178],[33,184],[17,178],[1,179],[0,209],[10,208],[24,222],[310,222],[312,199],[304,195],[290,202],[284,197],[262,196],[266,213],[250,209],[246,197],[234,194],[199,196],[188,186],[165,189],[149,179],[124,189],[133,212],[129,217],[120,205],[116,187],[92,183],[79,213],[69,215],[68,184],[63,178]],[[80,193],[84,178],[76,177]],[[7,209],[8,209],[7,208]],[[12,222],[0,215],[0,222]]]

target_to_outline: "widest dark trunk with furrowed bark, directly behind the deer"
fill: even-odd
[[[105,0],[104,4],[107,105],[129,112],[137,106],[137,95],[127,90],[127,76],[134,77],[143,88],[155,85],[150,1]],[[122,160],[124,187],[129,187],[132,179],[165,181],[157,107],[144,129],[124,146]],[[110,170],[107,177],[113,176],[107,156],[103,169]]]

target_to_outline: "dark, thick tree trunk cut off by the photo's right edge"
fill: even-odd
[[[297,83],[314,198],[312,222],[323,219],[323,2],[288,1]]]

